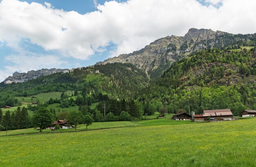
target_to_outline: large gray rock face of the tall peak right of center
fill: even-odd
[[[166,62],[175,62],[178,59],[189,55],[193,51],[204,48],[213,48],[214,41],[224,32],[212,31],[211,29],[189,29],[184,37],[175,35],[160,38],[145,46],[145,48],[129,54],[122,54],[118,57],[107,59],[97,64],[107,63],[131,63],[138,68],[144,69],[146,73],[164,66]],[[217,41],[218,42],[218,41]]]

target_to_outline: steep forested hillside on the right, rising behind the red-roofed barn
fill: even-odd
[[[236,114],[256,109],[256,51],[205,49],[171,65],[145,88],[139,101],[162,103],[202,113],[206,109],[231,108]]]

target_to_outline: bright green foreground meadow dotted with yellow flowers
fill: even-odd
[[[256,119],[0,137],[7,166],[255,166]]]

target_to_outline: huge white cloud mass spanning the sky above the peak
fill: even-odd
[[[112,56],[130,53],[167,35],[184,35],[189,28],[207,28],[230,33],[256,32],[256,1],[206,0],[222,2],[218,9],[196,0],[128,0],[105,2],[99,11],[81,15],[54,9],[51,4],[2,0],[0,40],[17,47],[29,38],[47,51],[88,59],[104,51],[110,42],[117,44]]]

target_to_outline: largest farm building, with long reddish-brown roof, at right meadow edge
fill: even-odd
[[[230,109],[221,110],[204,110],[203,114],[193,115],[194,121],[204,121],[208,117],[216,118],[218,120],[232,120],[232,112]]]

